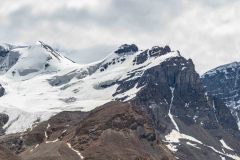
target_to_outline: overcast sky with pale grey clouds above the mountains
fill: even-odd
[[[37,40],[81,63],[168,44],[198,72],[240,59],[240,0],[1,0],[0,42]]]

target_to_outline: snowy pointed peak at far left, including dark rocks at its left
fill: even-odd
[[[16,80],[57,72],[73,65],[73,62],[41,41],[31,46],[1,46],[0,52],[1,73]]]

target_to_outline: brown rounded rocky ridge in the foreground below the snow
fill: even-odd
[[[11,148],[20,135],[0,140]],[[111,102],[90,113],[63,112],[22,135],[23,160],[173,160],[146,114],[131,103]],[[71,153],[71,154],[70,154]]]

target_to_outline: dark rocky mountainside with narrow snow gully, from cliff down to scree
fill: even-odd
[[[220,99],[206,94],[191,59],[171,57],[138,78],[132,78],[134,74],[118,82],[117,93],[140,88],[133,102],[148,113],[162,138],[175,130],[175,134],[190,135],[198,140],[200,152],[192,150],[194,147],[189,148],[192,141],[188,138],[180,138],[178,145],[175,140],[167,142],[166,145],[175,146],[172,151],[179,159],[189,159],[187,157],[191,155],[194,157],[190,159],[194,160],[219,159],[222,156],[221,139],[235,146],[233,148],[239,154],[239,131],[234,117]]]

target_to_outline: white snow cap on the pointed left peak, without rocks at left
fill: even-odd
[[[21,54],[17,63],[7,71],[6,75],[16,80],[30,79],[38,74],[56,72],[75,65],[60,55],[56,57],[39,43],[25,48],[16,48],[13,51]],[[46,64],[49,66],[45,67]]]

